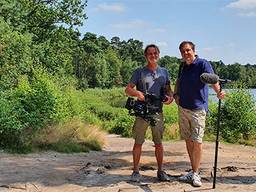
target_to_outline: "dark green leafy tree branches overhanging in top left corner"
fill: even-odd
[[[28,31],[36,42],[43,42],[58,25],[81,26],[86,19],[86,5],[86,0],[2,0],[0,13],[16,30]]]

